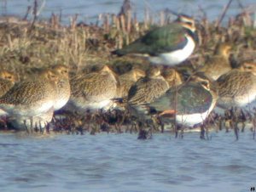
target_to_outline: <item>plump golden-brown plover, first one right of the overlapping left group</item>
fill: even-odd
[[[71,80],[71,102],[79,109],[100,109],[117,96],[118,80],[108,66]]]

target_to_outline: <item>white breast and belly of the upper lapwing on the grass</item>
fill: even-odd
[[[190,54],[193,53],[195,49],[195,42],[192,37],[185,35],[188,40],[188,43],[184,48],[178,49],[177,51],[172,51],[171,53],[159,54],[156,57],[149,57],[149,61],[153,64],[162,64],[162,65],[177,65],[187,59]]]

